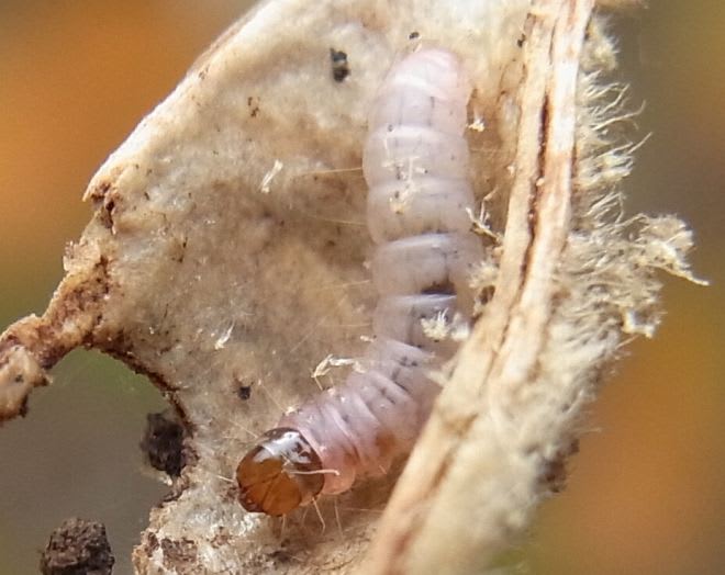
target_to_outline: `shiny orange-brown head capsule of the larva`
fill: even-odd
[[[252,512],[286,515],[322,491],[322,462],[295,429],[267,431],[236,469],[239,501]]]

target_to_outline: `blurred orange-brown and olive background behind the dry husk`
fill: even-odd
[[[93,171],[248,0],[0,0],[0,329],[41,313]],[[667,281],[668,315],[592,407],[568,489],[509,556],[539,574],[725,573],[725,9],[651,2],[613,22],[622,75],[654,137],[627,181],[629,212],[692,224],[698,288]],[[203,8],[200,8],[203,5]],[[37,572],[63,519],[103,521],[129,553],[165,487],[137,449],[158,393],[75,352],[0,430],[0,575]]]

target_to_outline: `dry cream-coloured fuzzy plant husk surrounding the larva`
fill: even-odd
[[[471,573],[560,488],[603,370],[657,326],[657,272],[693,280],[681,222],[620,211],[636,145],[592,10],[263,2],[99,170],[48,309],[0,338],[0,419],[24,415],[80,346],[165,392],[187,466],[152,510],[138,573]],[[473,83],[470,178],[488,215],[472,225],[495,243],[472,282],[487,303],[387,506],[394,473],[320,499],[326,529],[304,511],[247,514],[239,459],[315,393],[311,373],[343,381],[315,365],[370,334],[366,117],[393,63],[426,44]]]

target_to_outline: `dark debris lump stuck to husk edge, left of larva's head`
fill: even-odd
[[[178,477],[186,465],[183,436],[183,426],[175,418],[165,414],[148,414],[140,447],[152,467]]]

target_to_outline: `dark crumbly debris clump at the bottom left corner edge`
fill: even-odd
[[[66,519],[41,555],[43,575],[109,575],[115,562],[103,523]]]

